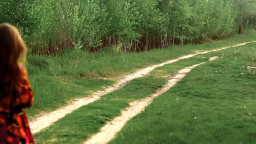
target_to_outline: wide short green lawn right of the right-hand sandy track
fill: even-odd
[[[256,44],[214,54],[109,143],[256,143]]]

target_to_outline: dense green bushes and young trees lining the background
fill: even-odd
[[[143,51],[227,37],[240,23],[255,27],[248,1],[1,0],[0,23],[16,25],[32,53],[120,43],[125,51]]]

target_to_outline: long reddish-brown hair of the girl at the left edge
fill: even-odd
[[[25,66],[27,47],[11,24],[0,24],[0,99],[16,99],[21,91],[21,66]],[[4,92],[5,91],[5,92]]]

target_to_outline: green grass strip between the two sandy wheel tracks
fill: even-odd
[[[142,77],[117,91],[109,93],[99,101],[83,106],[45,131],[35,134],[35,140],[40,143],[77,144],[88,136],[99,131],[108,120],[120,114],[121,110],[129,106],[129,102],[142,99],[162,87],[165,78]]]

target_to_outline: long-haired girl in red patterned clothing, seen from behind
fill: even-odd
[[[34,143],[24,111],[33,103],[26,53],[18,30],[0,24],[0,144]]]

